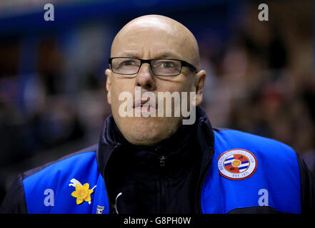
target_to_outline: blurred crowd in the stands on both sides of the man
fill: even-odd
[[[256,4],[249,4],[226,41],[211,30],[196,36],[211,124],[284,142],[315,172],[310,9],[270,3],[269,15],[277,16],[259,21]],[[99,140],[111,113],[104,87],[111,34],[96,24],[61,37],[46,34],[36,46],[19,36],[0,38],[0,170],[51,147]],[[36,51],[21,55],[29,45]],[[29,70],[21,58],[34,56]],[[2,190],[7,175],[0,174]]]

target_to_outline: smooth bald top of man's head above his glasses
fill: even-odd
[[[125,54],[128,54],[127,56],[131,56],[131,54],[140,55],[140,52],[146,51],[143,50],[146,44],[154,46],[152,41],[156,36],[159,36],[161,41],[167,41],[164,42],[164,51],[166,53],[159,53],[159,50],[156,50],[155,56],[154,53],[151,53],[152,58],[172,57],[172,54],[173,57],[178,56],[181,60],[188,61],[199,69],[199,47],[193,33],[178,21],[161,15],[140,16],[121,28],[111,45],[111,57],[121,56],[123,54],[119,52],[121,45],[125,45],[126,43],[132,45],[132,42],[139,38],[146,43],[143,43],[141,46],[137,43],[137,47],[134,47],[134,49],[138,49],[138,51],[131,50],[133,48],[124,51]],[[159,47],[156,46],[156,48]],[[159,56],[159,54],[164,56]]]

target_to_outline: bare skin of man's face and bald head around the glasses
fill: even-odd
[[[171,21],[172,22],[172,21]],[[175,58],[194,64],[196,47],[191,44],[191,37],[187,31],[177,24],[163,21],[159,18],[140,19],[125,26],[116,36],[111,48],[111,57],[133,57],[141,59]],[[158,92],[196,92],[198,83],[204,83],[204,76],[183,67],[179,76],[155,76],[149,64],[144,63],[139,73],[133,76],[124,76],[106,70],[106,88],[109,91],[108,100],[114,120],[126,140],[135,145],[155,145],[169,138],[181,125],[182,117],[166,117],[164,108],[163,117],[121,117],[119,95],[129,92],[135,99],[135,88],[141,88],[141,94],[152,92],[158,97]],[[197,94],[198,96],[198,94]],[[201,98],[199,98],[200,100]],[[196,100],[196,103],[200,101]],[[173,100],[174,101],[174,100]],[[174,107],[174,105],[172,106]],[[158,107],[161,108],[161,107]]]

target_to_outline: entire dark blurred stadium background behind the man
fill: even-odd
[[[54,21],[44,5],[54,5]],[[0,204],[20,172],[99,141],[111,41],[162,14],[199,41],[211,124],[284,142],[315,171],[314,1],[0,1]]]

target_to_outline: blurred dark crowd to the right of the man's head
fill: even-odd
[[[272,6],[277,17],[268,23],[249,7],[223,48],[201,44],[208,72],[204,106],[213,125],[284,142],[315,172],[311,14],[299,4]],[[287,17],[290,8],[299,14]]]

